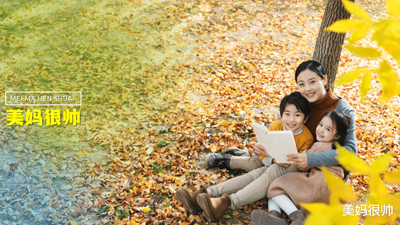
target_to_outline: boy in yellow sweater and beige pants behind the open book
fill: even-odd
[[[298,153],[308,150],[314,144],[314,137],[311,132],[304,126],[310,112],[310,105],[308,101],[300,94],[300,92],[293,92],[280,102],[280,117],[282,119],[275,121],[269,127],[270,131],[292,131],[294,141]],[[264,149],[260,144],[256,143],[254,148]],[[232,154],[232,155],[231,155]],[[253,156],[247,155],[247,152],[230,147],[224,149],[222,153],[210,153],[206,155],[206,167],[218,167],[220,169],[243,169],[247,172],[260,167],[270,166],[276,163],[272,157],[259,156],[253,153]],[[289,163],[279,164],[284,167],[289,167]]]

